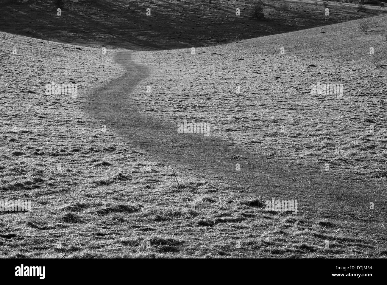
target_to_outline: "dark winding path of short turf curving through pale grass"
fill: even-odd
[[[115,61],[125,68],[126,73],[93,92],[86,109],[101,124],[114,128],[129,143],[155,160],[176,166],[177,172],[186,169],[195,175],[193,178],[238,185],[249,197],[298,199],[308,211],[323,211],[332,217],[337,207],[343,206],[342,203],[346,209],[353,210],[351,214],[355,214],[359,211],[359,203],[370,199],[370,185],[351,185],[349,181],[330,176],[323,169],[291,166],[275,158],[268,160],[259,152],[249,153],[243,146],[227,145],[218,140],[211,136],[211,128],[207,137],[178,134],[176,121],[141,112],[128,94],[147,77],[149,71],[134,62],[131,54],[132,51],[125,51],[116,55]],[[241,171],[235,170],[236,163],[241,164]]]

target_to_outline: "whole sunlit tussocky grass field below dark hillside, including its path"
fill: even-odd
[[[0,32],[0,199],[32,200],[0,212],[0,256],[387,257],[387,24],[362,21],[106,54]],[[210,135],[178,134],[185,119]]]

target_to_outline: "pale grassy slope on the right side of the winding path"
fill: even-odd
[[[320,170],[329,164],[332,179],[382,179],[385,20],[373,18],[367,33],[356,20],[196,48],[194,55],[191,49],[140,52],[135,60],[153,71],[143,83],[152,93],[141,93],[137,103],[176,122],[205,118],[213,135],[252,152]],[[373,63],[378,57],[380,68]],[[342,96],[313,95],[318,84],[337,84]]]

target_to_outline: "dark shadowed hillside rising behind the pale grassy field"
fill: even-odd
[[[57,16],[60,2],[62,16]],[[271,0],[263,2],[265,19],[258,21],[250,17],[253,0],[209,2],[2,0],[0,30],[81,45],[158,50],[228,43],[387,12],[380,7],[359,12],[357,5],[329,2],[330,14],[325,16],[322,1]],[[146,16],[147,8],[150,16]]]

